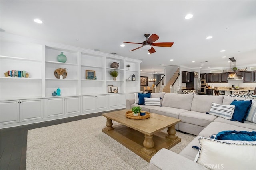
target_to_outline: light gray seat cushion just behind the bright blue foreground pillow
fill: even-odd
[[[228,123],[212,122],[206,128],[204,128],[204,130],[202,130],[198,136],[210,138],[212,134],[217,134],[218,132],[226,131],[226,130],[249,131],[249,132],[253,131],[250,128],[238,127],[235,125],[230,125]]]

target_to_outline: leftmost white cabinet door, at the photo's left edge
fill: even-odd
[[[20,122],[20,101],[2,101],[0,103],[0,124]]]

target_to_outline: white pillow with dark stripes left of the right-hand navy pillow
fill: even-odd
[[[230,120],[233,116],[234,110],[235,105],[220,105],[217,103],[212,103],[210,115],[215,115]]]

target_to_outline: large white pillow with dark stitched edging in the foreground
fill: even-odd
[[[200,137],[195,162],[209,169],[255,170],[256,141],[215,140]]]

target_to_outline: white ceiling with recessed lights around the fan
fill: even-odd
[[[255,0],[0,3],[0,27],[7,33],[140,59],[142,72],[151,73],[152,68],[163,72],[162,64],[228,68],[229,57],[236,59],[238,68],[256,65]],[[184,19],[188,13],[194,15],[190,20]],[[43,24],[35,23],[35,18]],[[157,34],[156,42],[174,45],[154,47],[156,53],[151,55],[142,48],[128,52],[140,44],[120,47],[123,41],[142,43],[146,33]],[[206,40],[207,36],[213,38]]]

